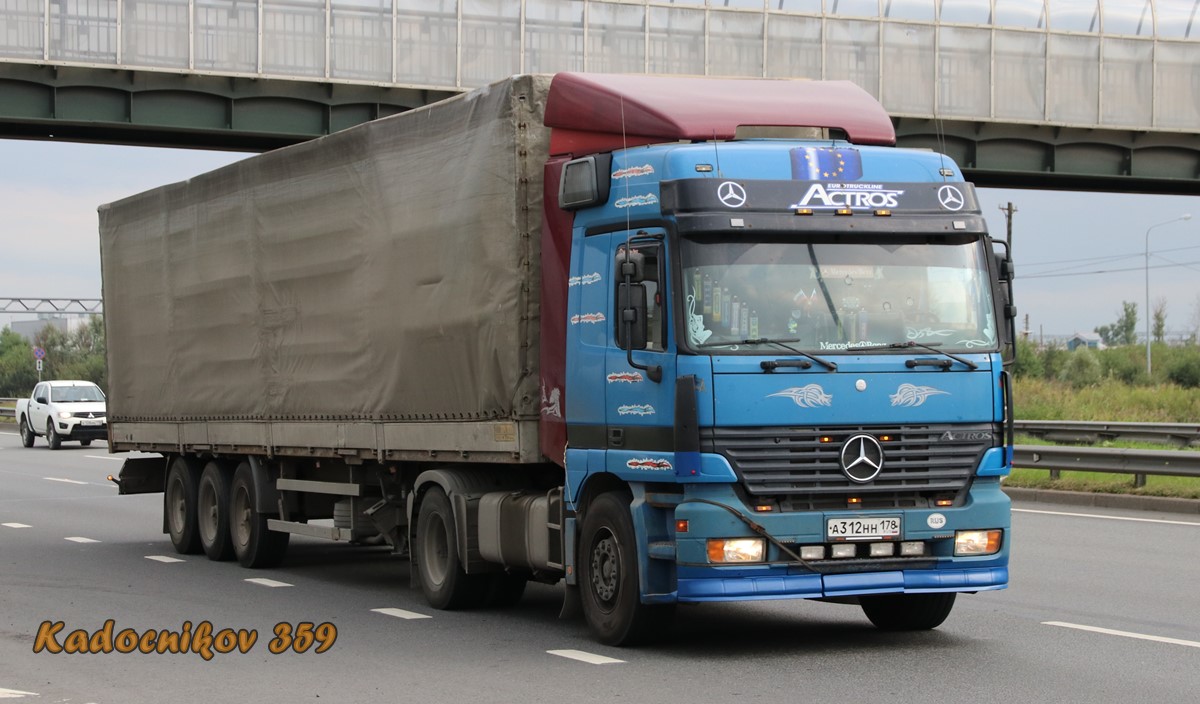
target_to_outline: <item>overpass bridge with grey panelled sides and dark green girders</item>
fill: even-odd
[[[848,79],[982,186],[1200,193],[1200,0],[0,0],[0,137],[265,150],[511,73]]]

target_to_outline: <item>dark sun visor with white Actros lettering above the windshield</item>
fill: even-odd
[[[830,167],[817,163],[811,168]],[[853,160],[832,168],[853,169]],[[802,160],[802,164],[803,164]],[[805,166],[804,168],[809,168]],[[979,213],[974,187],[962,181],[944,183],[881,183],[840,181],[756,181],[739,179],[684,179],[664,181],[662,212],[833,212],[890,210],[896,215]]]

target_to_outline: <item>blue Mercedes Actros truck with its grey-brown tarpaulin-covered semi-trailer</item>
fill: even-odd
[[[113,451],[180,552],[565,584],[595,637],[1008,584],[1013,267],[848,83],[522,76],[101,209]],[[156,347],[146,345],[155,341]]]

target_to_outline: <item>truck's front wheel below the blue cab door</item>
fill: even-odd
[[[605,645],[635,645],[661,634],[674,604],[642,603],[637,543],[629,495],[600,494],[583,515],[580,531],[580,601],[583,618]]]

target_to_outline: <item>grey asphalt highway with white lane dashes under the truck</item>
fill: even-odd
[[[614,649],[557,619],[558,588],[508,610],[431,609],[382,548],[293,536],[270,571],[175,555],[161,494],[118,497],[104,476],[119,468],[102,446],[26,450],[0,429],[0,699],[1124,704],[1200,691],[1195,516],[1018,504],[1012,586],[960,596],[931,632],[878,632],[851,606],[706,604],[680,608],[664,643]],[[247,580],[264,578],[276,584]],[[206,622],[229,639],[210,660],[50,652],[107,620],[114,636]],[[319,640],[300,643],[305,622]],[[257,633],[245,651],[238,631]]]

